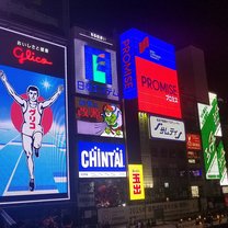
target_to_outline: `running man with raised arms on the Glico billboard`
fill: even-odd
[[[27,88],[26,94],[27,99],[23,99],[19,94],[15,93],[12,86],[8,82],[5,73],[0,70],[0,78],[3,82],[4,87],[7,88],[10,95],[13,100],[21,105],[22,114],[23,114],[23,125],[22,125],[22,146],[24,152],[27,158],[27,169],[30,173],[30,191],[34,191],[35,182],[34,182],[34,161],[33,161],[33,151],[35,156],[38,157],[38,150],[42,147],[42,139],[43,139],[43,127],[42,116],[44,113],[44,109],[50,106],[61,94],[64,87],[59,86],[58,90],[55,94],[46,100],[46,101],[38,101],[38,88],[34,86],[30,86]]]

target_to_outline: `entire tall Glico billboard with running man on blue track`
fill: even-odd
[[[0,27],[0,204],[69,198],[66,47]]]

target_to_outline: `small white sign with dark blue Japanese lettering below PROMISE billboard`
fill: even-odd
[[[185,141],[184,123],[170,118],[150,116],[150,134],[152,138]]]

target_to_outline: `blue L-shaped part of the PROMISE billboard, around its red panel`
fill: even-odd
[[[135,57],[175,70],[174,47],[136,29],[121,35],[121,60],[124,98],[138,95]]]

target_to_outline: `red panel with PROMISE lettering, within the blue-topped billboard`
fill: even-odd
[[[181,118],[176,70],[136,57],[138,109]]]

